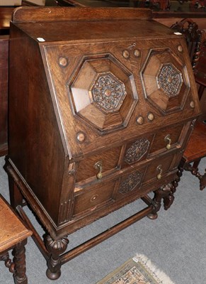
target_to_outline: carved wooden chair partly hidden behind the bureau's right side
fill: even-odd
[[[200,84],[198,96],[199,99],[201,99],[206,86],[206,41],[202,43],[203,32],[198,29],[197,23],[190,18],[184,18],[182,21],[173,24],[171,28],[185,35],[195,80],[198,84]],[[203,50],[204,48],[205,50]],[[198,171],[200,160],[205,156],[206,124],[205,121],[198,121],[194,126],[190,140],[188,141],[188,146],[185,148],[183,153],[183,158],[179,165],[178,180],[175,182],[175,187],[178,186],[183,170],[189,170],[200,180],[200,190],[205,188],[206,170],[202,175]]]

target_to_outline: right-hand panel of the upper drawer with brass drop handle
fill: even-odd
[[[183,129],[184,126],[181,124],[159,130],[154,136],[154,141],[149,153],[153,154],[156,151],[168,151],[174,147],[180,148]]]

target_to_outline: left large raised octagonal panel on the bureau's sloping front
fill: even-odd
[[[132,72],[111,54],[81,58],[67,86],[74,116],[100,133],[126,127],[138,101]]]

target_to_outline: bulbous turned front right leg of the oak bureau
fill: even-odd
[[[153,212],[151,212],[151,214],[147,215],[149,219],[156,219],[158,217],[157,212],[161,208],[162,199],[164,200],[164,206],[165,206],[165,203],[167,202],[167,199],[170,200],[171,197],[168,197],[168,196],[169,195],[172,196],[171,187],[172,187],[171,184],[164,185],[154,192],[154,198],[153,198],[154,210]]]

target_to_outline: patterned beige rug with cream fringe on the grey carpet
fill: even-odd
[[[96,284],[175,284],[146,256],[131,258]]]

